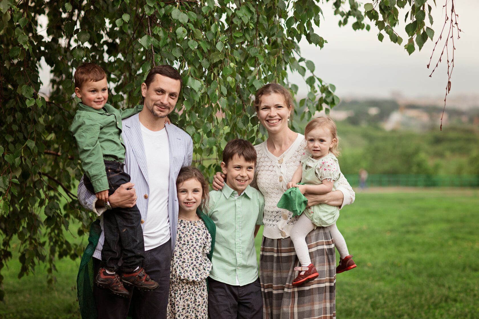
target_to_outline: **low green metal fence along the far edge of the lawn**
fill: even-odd
[[[359,186],[359,176],[344,174],[352,187]],[[406,175],[369,174],[366,187],[479,187],[479,175]]]

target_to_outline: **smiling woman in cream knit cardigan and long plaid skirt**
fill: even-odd
[[[294,267],[299,266],[289,237],[297,217],[276,206],[306,148],[304,136],[288,127],[293,111],[291,93],[279,84],[267,84],[256,92],[254,104],[260,123],[268,131],[268,139],[255,146],[258,162],[251,183],[265,201],[260,256],[263,319],[335,318],[336,259],[328,228],[318,227],[306,237],[318,278],[301,287],[291,285],[297,276]],[[215,189],[223,186],[223,177],[215,175]],[[341,208],[353,203],[354,191],[343,176],[338,184],[336,191],[325,195],[305,194],[308,206],[327,203]]]

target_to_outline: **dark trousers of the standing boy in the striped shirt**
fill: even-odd
[[[262,319],[260,278],[244,286],[232,286],[208,278],[208,315],[221,319]]]

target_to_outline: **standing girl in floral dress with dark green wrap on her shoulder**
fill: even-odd
[[[203,213],[208,207],[208,184],[194,167],[182,167],[176,180],[178,193],[178,233],[171,260],[170,297],[167,318],[207,319],[206,278],[216,227]]]

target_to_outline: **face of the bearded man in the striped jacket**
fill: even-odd
[[[145,108],[157,118],[165,118],[174,110],[180,90],[180,80],[160,74],[155,75],[148,87],[146,83],[141,84],[141,95],[145,98]]]

